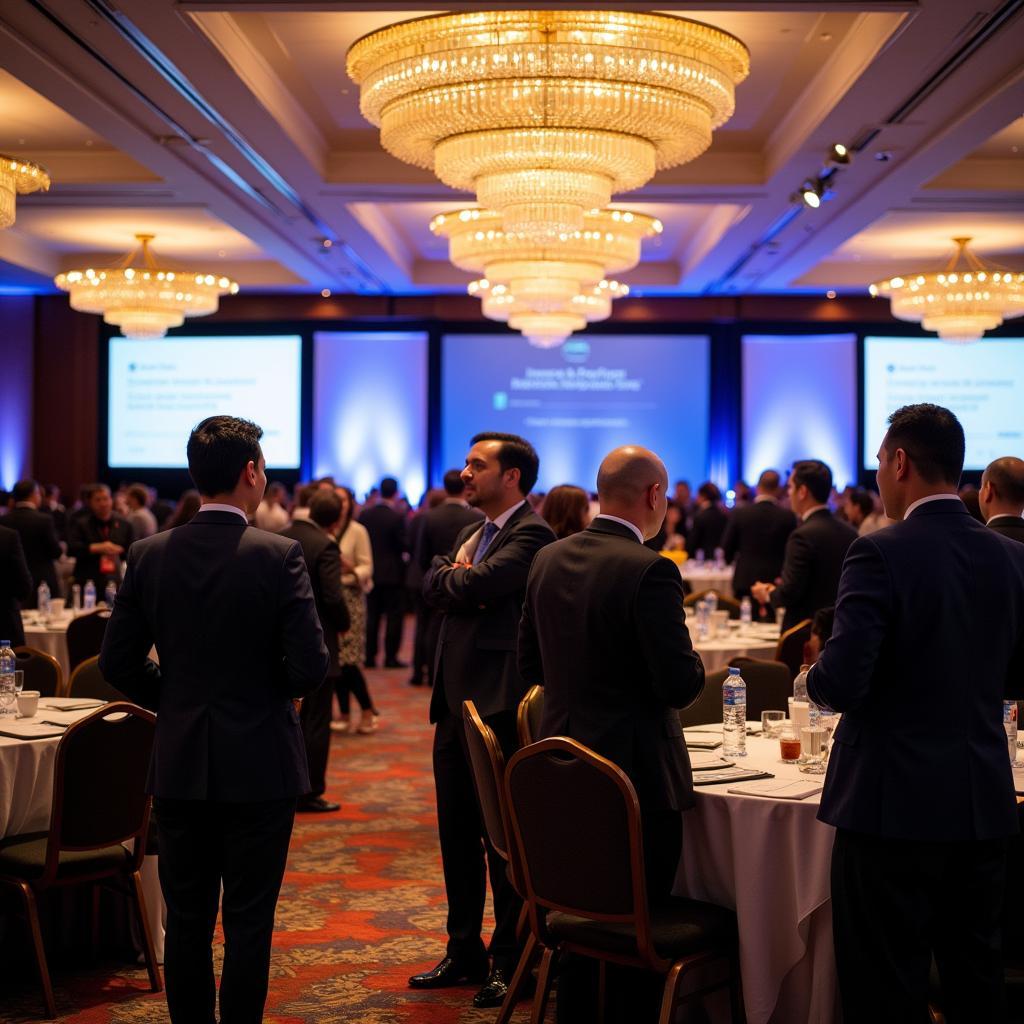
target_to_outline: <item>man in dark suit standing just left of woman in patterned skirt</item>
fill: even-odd
[[[331,536],[340,523],[341,499],[333,490],[317,490],[309,500],[309,518],[296,519],[281,531],[282,537],[298,541],[302,548],[330,659],[327,679],[306,696],[299,713],[309,766],[309,792],[299,798],[298,809],[319,813],[341,810],[340,804],[324,799],[331,752],[331,702],[341,675],[338,634],[346,633],[350,625],[341,591],[341,553]]]

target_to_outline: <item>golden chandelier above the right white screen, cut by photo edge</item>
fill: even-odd
[[[890,278],[868,291],[890,299],[893,316],[920,321],[943,341],[977,341],[1004,321],[1024,314],[1024,273],[986,265],[968,250],[970,241],[953,239],[956,252],[944,270]]]

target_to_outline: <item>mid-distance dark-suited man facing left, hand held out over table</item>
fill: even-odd
[[[782,580],[777,586],[767,581],[751,587],[751,596],[762,605],[785,608],[783,631],[836,603],[843,559],[857,539],[852,526],[828,511],[831,470],[823,462],[795,462],[786,489],[802,522],[785,542]]]

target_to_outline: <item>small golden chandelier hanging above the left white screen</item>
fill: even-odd
[[[239,286],[228,278],[159,267],[150,252],[152,234],[136,234],[139,249],[111,269],[69,270],[53,279],[71,296],[72,309],[100,313],[126,338],[148,341],[180,327],[186,316],[217,311],[221,295]]]

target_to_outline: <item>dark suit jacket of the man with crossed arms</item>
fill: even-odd
[[[438,555],[423,580],[427,604],[444,612],[434,655],[430,721],[462,716],[463,700],[480,715],[514,711],[527,686],[516,665],[519,617],[534,556],[555,539],[528,504],[512,513],[483,558],[470,568],[451,568],[459,549],[482,528],[464,527],[451,556]]]

